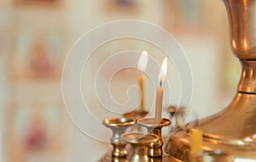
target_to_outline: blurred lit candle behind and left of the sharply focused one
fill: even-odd
[[[148,64],[148,52],[147,51],[143,51],[141,54],[140,59],[137,62],[137,68],[141,71],[146,70],[147,68],[147,64]],[[144,110],[144,75],[140,74],[139,75],[139,87],[141,89],[141,109]]]

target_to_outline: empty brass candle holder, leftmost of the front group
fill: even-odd
[[[110,139],[110,142],[113,145],[112,157],[123,158],[126,156],[126,143],[121,140],[120,136],[125,132],[127,127],[132,126],[135,123],[136,120],[134,118],[102,120],[102,124],[113,131],[113,136]]]

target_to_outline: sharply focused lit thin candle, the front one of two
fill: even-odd
[[[163,104],[163,93],[164,88],[162,88],[162,83],[166,79],[167,73],[167,58],[164,59],[160,73],[159,73],[159,81],[160,87],[157,88],[156,91],[156,101],[155,101],[155,122],[160,123],[162,120],[162,104]]]

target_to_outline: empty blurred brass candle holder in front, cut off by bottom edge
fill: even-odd
[[[131,143],[133,152],[129,157],[129,162],[148,162],[148,146],[152,142],[158,141],[158,136],[154,134],[143,134],[140,132],[129,132],[122,136],[125,142]]]

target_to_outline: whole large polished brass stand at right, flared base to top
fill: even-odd
[[[232,49],[241,60],[241,81],[230,106],[217,115],[189,123],[172,132],[166,153],[188,161],[191,137],[196,127],[204,132],[202,149],[220,150],[236,161],[256,160],[256,0],[224,0],[230,20]],[[215,154],[215,157],[218,155]]]

